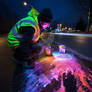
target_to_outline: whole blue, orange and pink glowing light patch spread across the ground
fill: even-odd
[[[61,54],[55,56],[46,56],[35,63],[34,70],[26,70],[28,81],[25,92],[66,92],[63,81],[63,74],[71,72],[74,75],[77,84],[77,92],[92,91],[92,71],[86,69],[78,63],[78,59],[71,54]],[[60,79],[59,79],[60,76]],[[53,80],[60,83],[58,90],[46,91],[48,85],[53,84]],[[47,88],[47,89],[46,89]],[[50,89],[49,89],[50,90]]]

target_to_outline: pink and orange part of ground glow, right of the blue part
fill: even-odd
[[[92,75],[83,70],[83,68],[78,63],[78,60],[75,57],[71,56],[69,58],[68,55],[66,55],[66,57],[61,55],[61,58],[60,56],[59,58],[58,56],[44,57],[40,60],[40,62],[42,63],[41,69],[44,72],[48,71],[44,73],[46,76],[51,75],[53,78],[58,80],[59,75],[61,75],[62,78],[63,73],[67,74],[69,71],[71,71],[77,80],[77,88],[78,88],[77,92],[86,92],[86,90],[84,90],[82,86],[87,87],[90,90],[90,92],[92,91],[92,88],[89,86],[89,83],[86,81],[86,79],[88,79],[92,84]],[[55,67],[53,69],[50,69],[50,67],[52,66]],[[61,88],[57,92],[65,92],[65,88],[63,86],[63,78],[61,80]]]

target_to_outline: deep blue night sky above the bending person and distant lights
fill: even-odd
[[[28,3],[27,6],[23,2]],[[38,11],[50,8],[53,13],[53,21],[76,25],[80,16],[87,21],[87,13],[84,15],[78,0],[2,0],[0,1],[0,26],[1,30],[11,28],[19,19],[26,17],[31,9],[31,4]]]

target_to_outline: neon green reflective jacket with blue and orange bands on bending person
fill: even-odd
[[[8,45],[11,48],[15,49],[19,46],[20,40],[22,39],[24,32],[27,32],[27,28],[30,27],[35,29],[35,32],[33,34],[33,41],[36,42],[39,39],[40,29],[38,26],[38,15],[39,12],[32,8],[28,12],[28,16],[26,18],[21,19],[15,24],[15,26],[13,26],[13,28],[8,34]]]

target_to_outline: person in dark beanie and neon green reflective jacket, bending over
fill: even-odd
[[[50,26],[52,14],[45,8],[40,13],[32,8],[28,16],[18,21],[8,34],[8,45],[15,50],[14,61],[30,61],[30,57],[41,51],[38,44],[40,33]]]

